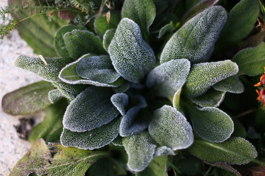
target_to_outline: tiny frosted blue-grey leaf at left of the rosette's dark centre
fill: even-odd
[[[116,93],[111,96],[110,101],[122,115],[125,115],[125,107],[129,103],[128,95],[125,93]]]

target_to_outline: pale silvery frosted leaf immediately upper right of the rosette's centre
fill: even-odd
[[[147,88],[156,87],[158,96],[173,95],[185,84],[190,68],[187,59],[171,60],[154,68],[146,78]]]

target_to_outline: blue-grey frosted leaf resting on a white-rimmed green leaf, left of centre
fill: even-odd
[[[113,83],[120,77],[108,55],[85,57],[77,63],[76,71],[84,79],[103,84]]]

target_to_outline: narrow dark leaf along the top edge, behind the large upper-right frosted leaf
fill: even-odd
[[[218,1],[219,0],[200,0],[200,2],[194,4],[194,6],[182,16],[181,23],[185,23],[204,9],[215,5]]]

